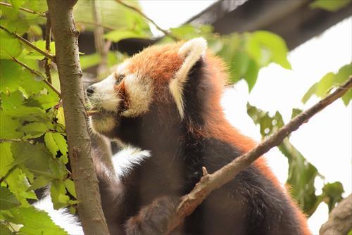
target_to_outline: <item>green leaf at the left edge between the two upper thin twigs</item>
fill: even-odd
[[[17,57],[20,55],[20,53],[22,52],[22,45],[20,44],[20,41],[18,41],[18,39],[1,29],[0,38],[0,59],[11,59],[11,56]]]

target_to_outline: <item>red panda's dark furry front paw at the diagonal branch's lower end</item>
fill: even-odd
[[[128,235],[156,235],[168,231],[170,220],[175,215],[179,197],[164,196],[142,208],[125,224]]]

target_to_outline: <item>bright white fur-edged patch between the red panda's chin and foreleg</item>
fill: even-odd
[[[113,155],[113,167],[118,179],[126,176],[135,165],[140,165],[146,158],[149,158],[151,153],[149,151],[142,151],[139,148],[127,146],[120,152]]]

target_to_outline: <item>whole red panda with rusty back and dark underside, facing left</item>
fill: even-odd
[[[206,40],[151,46],[87,88],[94,132],[147,153],[118,174],[96,160],[111,234],[164,234],[180,196],[202,176],[255,147],[227,122],[227,80]],[[121,160],[120,160],[121,161]],[[121,164],[121,163],[120,163]],[[306,217],[263,159],[210,193],[176,234],[310,234]]]

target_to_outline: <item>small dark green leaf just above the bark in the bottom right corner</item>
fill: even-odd
[[[329,212],[343,199],[342,193],[344,193],[344,186],[342,186],[341,182],[325,184],[322,188],[322,195],[325,198],[325,203],[328,205]]]

